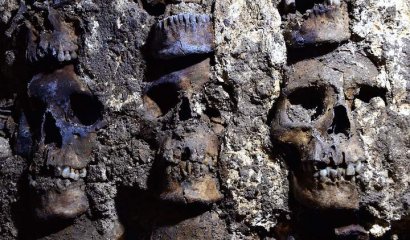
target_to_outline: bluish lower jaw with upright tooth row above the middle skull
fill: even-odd
[[[212,19],[206,14],[179,14],[157,23],[152,30],[151,52],[158,59],[207,54],[214,50]]]

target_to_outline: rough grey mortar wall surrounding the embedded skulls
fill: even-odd
[[[368,160],[359,210],[341,213],[294,201],[288,166],[271,141],[284,73],[301,58],[312,58],[302,50],[292,58],[295,52],[287,50],[279,0],[0,0],[0,238],[331,239],[360,233],[409,239],[410,3],[346,2],[351,37],[324,50],[362,54],[378,76],[377,87],[353,102]],[[28,108],[27,83],[65,64],[26,59],[27,22],[38,27],[46,21],[47,4],[77,24],[78,57],[70,63],[102,103],[106,122],[87,166],[90,208],[53,224],[35,220],[28,190],[31,158],[18,156],[15,148],[25,130],[19,126],[21,109]],[[223,199],[205,206],[165,204],[151,189],[155,136],[174,126],[169,119],[147,117],[144,91],[164,67],[151,59],[147,46],[151,27],[180,13],[209,14],[215,28],[211,77],[192,96],[193,112],[217,122],[220,133],[216,175]]]

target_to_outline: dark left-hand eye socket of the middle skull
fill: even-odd
[[[178,104],[179,87],[174,83],[163,83],[152,87],[146,97],[147,107],[156,115],[163,116]]]

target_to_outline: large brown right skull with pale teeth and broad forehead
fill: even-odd
[[[353,102],[377,69],[360,53],[334,52],[298,62],[286,73],[271,123],[294,197],[323,209],[357,209],[368,159],[355,128]]]

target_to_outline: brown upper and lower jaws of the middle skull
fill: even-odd
[[[161,172],[160,199],[175,203],[210,204],[222,199],[214,169],[219,140],[206,125],[194,133],[182,133],[178,139],[166,135],[157,158]]]

